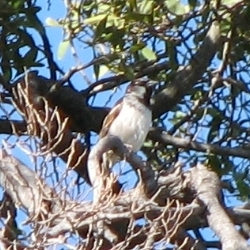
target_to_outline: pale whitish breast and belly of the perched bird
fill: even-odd
[[[130,145],[136,152],[142,147],[151,122],[151,110],[145,105],[124,104],[111,124],[109,134],[119,136],[124,144]]]

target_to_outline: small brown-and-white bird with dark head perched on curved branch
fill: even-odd
[[[99,137],[117,136],[133,152],[141,149],[152,125],[150,81],[137,79],[127,87],[124,97],[119,100],[104,119]],[[103,155],[108,168],[118,162],[113,152]]]

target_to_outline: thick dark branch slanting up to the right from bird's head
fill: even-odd
[[[154,96],[152,110],[155,118],[171,110],[192,89],[216,54],[220,40],[218,23],[213,22],[203,44],[190,63],[185,67],[180,66],[175,79],[167,85],[166,89]]]

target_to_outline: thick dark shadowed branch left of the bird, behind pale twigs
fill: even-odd
[[[68,117],[72,131],[86,133],[91,131],[99,132],[102,121],[108,113],[108,109],[91,107],[87,104],[86,97],[68,86],[61,86],[56,81],[38,75],[36,71],[27,73],[18,79],[12,88],[16,93],[13,99],[23,113],[24,103],[20,103],[20,91],[18,86],[26,88],[28,84],[28,98],[36,109],[43,109],[42,98],[49,103],[50,108],[61,111],[64,117]],[[26,93],[25,93],[26,94]]]

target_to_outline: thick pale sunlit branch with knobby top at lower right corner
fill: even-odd
[[[198,202],[207,208],[209,226],[220,238],[223,250],[249,250],[247,241],[236,230],[221,202],[220,181],[205,166],[198,165],[190,171],[190,182],[197,193]]]

